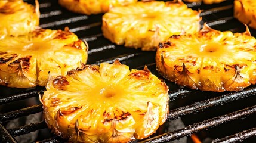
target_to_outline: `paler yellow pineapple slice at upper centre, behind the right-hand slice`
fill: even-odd
[[[155,51],[171,35],[197,32],[200,20],[199,12],[181,1],[137,2],[104,14],[102,31],[118,45]]]

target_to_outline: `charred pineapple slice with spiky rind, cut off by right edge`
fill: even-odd
[[[240,91],[256,83],[256,39],[220,32],[206,24],[195,35],[174,35],[159,44],[156,69],[178,85],[202,91]]]

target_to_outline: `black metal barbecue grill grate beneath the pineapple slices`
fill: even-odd
[[[25,0],[33,4],[32,0]],[[68,26],[82,40],[88,42],[87,64],[113,63],[119,58],[122,64],[131,69],[143,69],[147,65],[150,71],[161,77],[155,69],[155,52],[140,49],[124,48],[107,39],[101,33],[101,16],[80,15],[61,8],[57,0],[41,0],[41,27],[49,29],[64,29]],[[245,26],[233,18],[233,1],[227,0],[220,4],[205,5],[201,2],[187,4],[194,10],[202,10],[203,23],[217,30],[243,32]],[[251,29],[252,36],[256,31]],[[173,132],[164,132],[165,125],[158,132],[143,141],[135,142],[169,142],[193,133],[199,139],[212,138],[212,142],[255,142],[256,141],[256,86],[252,85],[240,92],[206,92],[195,91],[175,85],[165,80],[169,86],[169,115],[166,123],[181,118],[185,128]],[[0,86],[0,142],[17,142],[16,136],[38,131],[36,142],[66,142],[50,133],[44,119],[7,129],[10,120],[35,113],[42,113],[38,93],[43,94],[44,87],[30,89],[7,88]],[[13,108],[21,102],[34,99],[29,107]],[[46,132],[50,135],[46,135]],[[192,142],[192,140],[187,140]]]

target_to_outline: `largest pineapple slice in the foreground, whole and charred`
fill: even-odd
[[[44,118],[56,135],[76,142],[128,142],[152,135],[168,115],[168,86],[145,66],[83,65],[47,84]]]

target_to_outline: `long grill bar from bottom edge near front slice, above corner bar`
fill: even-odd
[[[239,119],[241,117],[246,117],[251,114],[256,113],[256,105],[252,107],[245,108],[243,110],[235,111],[233,113],[229,113],[223,116],[214,117],[212,119],[204,120],[203,122],[194,123],[193,125],[186,126],[183,129],[175,130],[174,132],[164,133],[159,136],[155,136],[150,139],[146,139],[143,142],[168,142],[173,141],[175,139],[182,138],[184,136],[190,136],[192,133],[199,132],[203,129],[212,128],[214,126],[220,125],[222,123],[226,123],[235,119]]]

